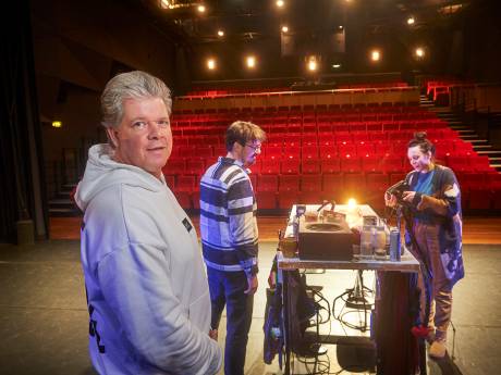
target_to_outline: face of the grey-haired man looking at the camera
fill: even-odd
[[[160,98],[126,99],[118,128],[108,128],[118,162],[138,166],[157,178],[172,151],[169,114]]]

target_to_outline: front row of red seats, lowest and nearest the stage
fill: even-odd
[[[318,203],[323,199],[345,201],[355,198],[372,208],[383,208],[383,193],[404,173],[340,173],[330,175],[252,175],[259,209],[290,209],[294,203]],[[498,173],[459,174],[464,209],[501,209],[501,175]],[[472,182],[468,184],[468,182]],[[482,186],[478,186],[481,182]],[[199,208],[199,190],[194,176],[168,178],[185,209]]]

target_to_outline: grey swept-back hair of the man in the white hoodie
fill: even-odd
[[[171,90],[161,79],[140,71],[115,75],[108,82],[101,95],[102,126],[108,128],[120,125],[125,99],[145,98],[162,99],[170,116]]]

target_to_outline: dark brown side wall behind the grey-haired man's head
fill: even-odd
[[[35,0],[32,24],[47,165],[97,140],[99,96],[117,73],[147,71],[175,92],[175,40],[138,2]]]

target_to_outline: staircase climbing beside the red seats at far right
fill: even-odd
[[[449,126],[459,133],[461,139],[471,142],[479,155],[487,155],[490,166],[501,172],[501,150],[493,148],[487,139],[481,139],[473,129],[472,124],[463,122],[457,114],[451,112],[449,107],[436,107],[426,95],[421,95],[419,101],[420,107],[435,112],[439,118],[447,121]],[[498,114],[496,121],[499,122],[497,126],[501,127],[501,114]]]

